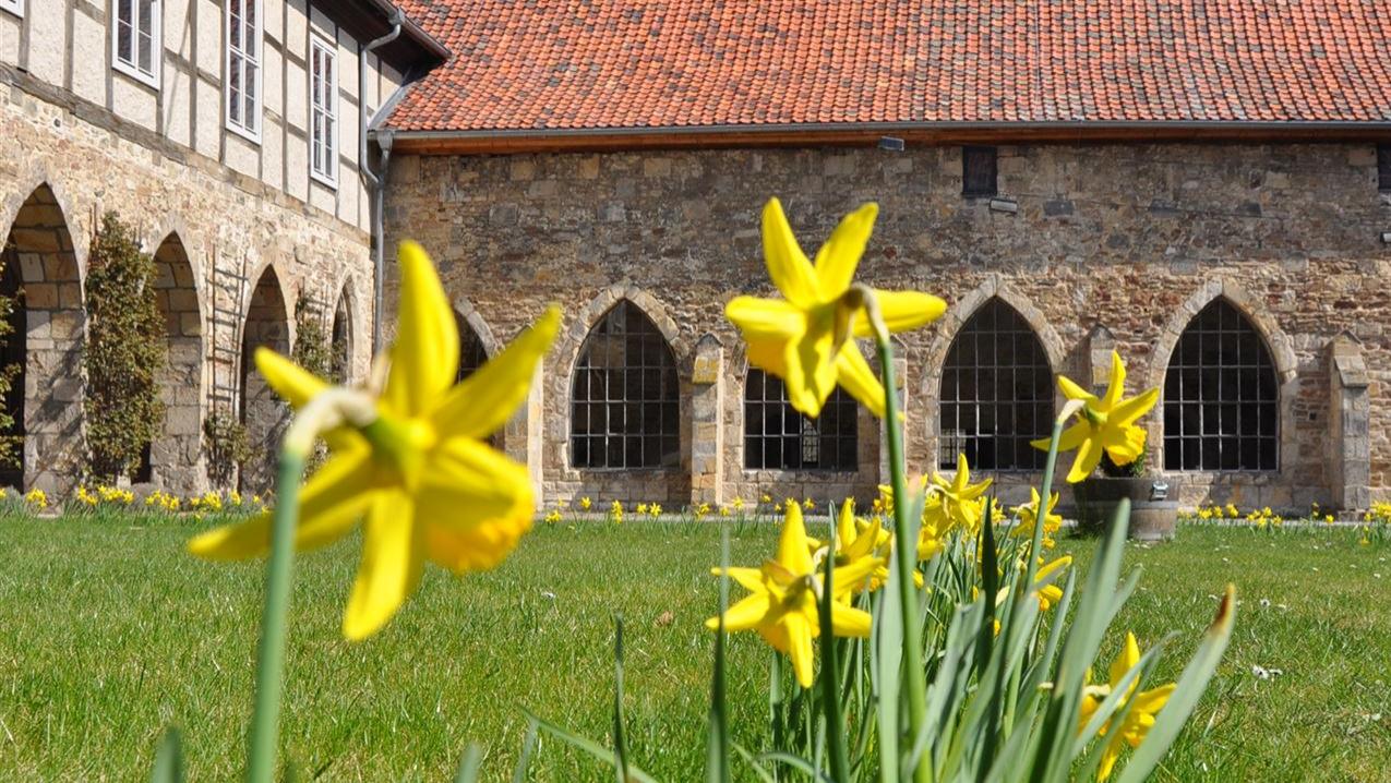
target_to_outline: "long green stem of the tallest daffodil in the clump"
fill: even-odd
[[[861,286],[857,286],[861,288]],[[893,344],[889,328],[879,312],[874,291],[864,288],[865,316],[875,332],[879,352],[879,373],[883,377],[883,427],[889,448],[889,476],[893,487],[893,560],[897,570],[899,604],[903,612],[903,681],[908,687],[908,732],[910,745],[918,736],[928,715],[926,672],[922,668],[922,616],[918,609],[918,594],[912,584],[912,569],[917,566],[918,542],[908,540],[908,477],[903,462],[903,423],[899,421],[899,392],[893,373]],[[929,752],[924,752],[914,769],[912,779],[926,783],[932,779]]]

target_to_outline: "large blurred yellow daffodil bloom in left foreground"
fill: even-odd
[[[381,629],[420,581],[424,562],[455,573],[495,566],[531,527],[536,502],[526,467],[487,445],[526,399],[533,370],[561,324],[551,307],[495,359],[453,385],[459,332],[424,250],[399,253],[401,306],[391,369],[363,433],[339,428],[332,455],[300,495],[295,547],[309,549],[363,524],[362,563],[344,616],[360,640]],[[328,387],[262,349],[267,382],[299,407]],[[271,516],[220,527],[189,542],[210,559],[270,548]]]

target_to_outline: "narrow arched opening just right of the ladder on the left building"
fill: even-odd
[[[275,451],[289,423],[289,407],[256,371],[260,346],[288,353],[291,346],[291,303],[274,264],[266,264],[255,278],[246,314],[242,318],[239,419],[246,427],[252,456],[242,466],[243,491],[260,492],[274,485]]]

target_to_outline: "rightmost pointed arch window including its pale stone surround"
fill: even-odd
[[[1213,280],[1174,313],[1155,346],[1152,427],[1170,471],[1266,471],[1283,459],[1296,367],[1288,338],[1257,299]]]

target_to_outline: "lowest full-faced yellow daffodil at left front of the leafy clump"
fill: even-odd
[[[844,572],[835,570],[830,627],[836,636],[869,636],[869,613],[850,606],[843,598],[872,569],[874,563],[862,559]],[[712,572],[715,576],[726,573],[723,569]],[[768,644],[791,659],[797,683],[810,688],[815,658],[812,640],[821,636],[821,613],[817,608],[821,576],[811,559],[801,506],[787,505],[775,559],[757,569],[730,567],[727,574],[747,588],[750,595],[725,611],[725,630],[757,630]],[[719,617],[705,620],[705,626],[718,629]]]

